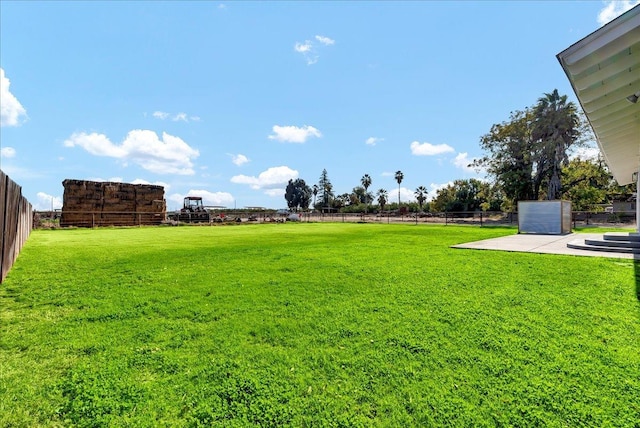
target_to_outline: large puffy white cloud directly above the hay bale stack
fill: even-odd
[[[74,133],[64,145],[81,147],[96,156],[133,162],[156,174],[193,175],[192,160],[200,155],[179,137],[163,133],[160,139],[155,132],[143,129],[130,131],[120,145],[95,132]]]

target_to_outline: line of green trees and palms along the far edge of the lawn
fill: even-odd
[[[294,211],[313,206],[316,210],[367,213],[385,209],[514,211],[521,200],[566,199],[576,211],[598,211],[602,204],[630,200],[636,186],[619,186],[601,156],[570,156],[594,141],[584,115],[556,89],[545,93],[533,106],[512,112],[508,120],[493,125],[480,138],[485,154],[469,166],[484,171],[486,180],[455,180],[438,189],[430,202],[427,188],[419,186],[414,191],[416,202],[402,204],[402,171],[395,173],[395,203],[390,202],[385,189],[369,191],[373,183],[369,174],[364,174],[350,193],[336,195],[324,169],[313,186],[302,179],[289,180],[285,200]]]

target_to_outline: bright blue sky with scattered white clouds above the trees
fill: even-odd
[[[291,178],[430,196],[480,137],[557,88],[555,55],[626,2],[0,2],[2,170],[286,206]]]

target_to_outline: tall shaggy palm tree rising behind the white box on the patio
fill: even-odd
[[[562,195],[562,166],[569,162],[567,150],[579,141],[580,117],[575,104],[567,102],[567,96],[561,96],[557,89],[538,99],[533,115],[532,138],[547,166],[547,199],[558,199]]]

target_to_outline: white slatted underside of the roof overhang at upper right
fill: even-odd
[[[640,168],[640,5],[558,55],[619,184]]]

